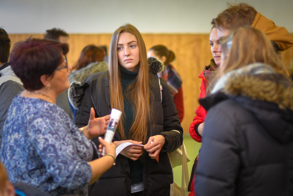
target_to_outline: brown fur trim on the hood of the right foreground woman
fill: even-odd
[[[293,83],[282,74],[233,74],[227,79],[223,92],[272,102],[280,109],[293,110]]]

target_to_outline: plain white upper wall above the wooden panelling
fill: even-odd
[[[236,1],[241,2],[241,1]],[[293,32],[293,0],[246,0],[276,25]],[[142,33],[208,33],[226,0],[0,0],[8,33],[113,33],[123,23]]]

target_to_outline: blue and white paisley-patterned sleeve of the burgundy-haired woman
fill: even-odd
[[[92,177],[93,146],[59,107],[43,108],[33,115],[31,143],[53,180],[67,189],[85,188]]]

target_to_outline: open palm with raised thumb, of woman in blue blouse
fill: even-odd
[[[105,134],[108,128],[109,119],[110,115],[101,118],[95,118],[95,110],[94,108],[91,108],[89,124],[84,129],[85,136],[89,139],[92,139],[96,136]]]

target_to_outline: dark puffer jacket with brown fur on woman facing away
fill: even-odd
[[[292,82],[279,74],[234,75],[200,102],[209,110],[196,195],[293,195]]]

